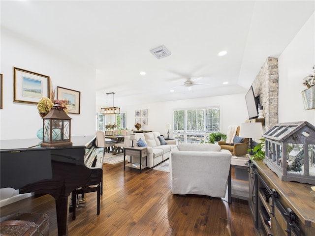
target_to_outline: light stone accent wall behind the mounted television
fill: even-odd
[[[264,107],[264,132],[278,123],[278,79],[278,59],[269,57],[252,83],[254,94]]]

